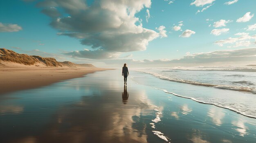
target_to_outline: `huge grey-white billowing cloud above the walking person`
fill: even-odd
[[[114,58],[119,52],[146,50],[148,42],[165,36],[164,30],[157,33],[144,28],[135,16],[141,9],[150,8],[150,0],[94,0],[90,6],[84,0],[44,0],[37,5],[52,18],[50,25],[60,31],[58,35],[74,37],[94,49],[74,51],[72,56]],[[56,17],[56,12],[62,16]]]

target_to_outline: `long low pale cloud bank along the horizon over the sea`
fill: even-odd
[[[106,64],[117,64],[128,63],[129,65],[142,67],[167,67],[167,66],[186,66],[211,63],[220,63],[223,62],[255,62],[256,61],[256,48],[242,48],[236,50],[220,50],[212,51],[208,53],[186,53],[186,56],[180,59],[157,59],[157,60],[135,60],[135,59],[117,59],[117,60],[104,60]]]

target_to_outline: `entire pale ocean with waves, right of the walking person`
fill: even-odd
[[[210,91],[203,94],[182,93],[180,95],[166,88],[167,84],[154,86],[176,96],[189,98],[199,103],[213,104],[247,117],[256,118],[256,66],[146,68],[135,69],[135,71],[170,82],[222,89],[220,91],[223,92],[218,92],[218,95]]]

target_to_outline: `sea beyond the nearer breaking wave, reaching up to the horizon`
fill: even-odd
[[[236,70],[235,70],[236,69]],[[238,70],[240,69],[240,70]],[[249,71],[248,71],[249,69]],[[256,94],[256,68],[148,68],[137,71],[160,79]]]

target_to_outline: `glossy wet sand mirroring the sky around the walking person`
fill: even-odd
[[[120,73],[1,95],[0,142],[255,142],[255,119],[155,89],[165,81],[144,73],[131,71],[125,87]],[[209,88],[176,85],[176,92]]]

